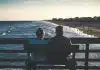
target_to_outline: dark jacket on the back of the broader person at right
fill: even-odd
[[[70,54],[70,40],[64,36],[55,36],[50,39],[47,48],[47,59],[49,62],[65,62]]]

